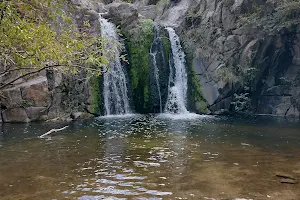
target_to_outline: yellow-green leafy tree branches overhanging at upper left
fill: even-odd
[[[6,74],[32,74],[50,67],[66,73],[84,67],[88,74],[101,74],[98,66],[108,62],[102,56],[102,39],[87,34],[88,21],[80,30],[73,26],[62,9],[66,4],[63,0],[0,3],[0,66]]]

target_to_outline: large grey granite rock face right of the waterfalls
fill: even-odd
[[[299,117],[300,9],[293,3],[200,0],[189,7],[178,31],[210,111],[234,112],[243,96],[247,112]]]

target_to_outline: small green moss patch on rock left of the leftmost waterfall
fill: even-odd
[[[99,76],[93,76],[90,79],[91,86],[91,106],[90,112],[100,113],[101,105],[101,91],[100,91],[100,81]]]

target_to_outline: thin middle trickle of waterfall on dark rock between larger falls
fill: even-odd
[[[162,99],[161,99],[161,92],[160,92],[160,84],[159,84],[159,69],[157,66],[157,62],[156,62],[156,55],[157,55],[157,46],[159,45],[159,43],[161,43],[159,35],[158,35],[158,28],[157,26],[154,27],[154,33],[155,33],[155,37],[154,40],[152,42],[152,46],[150,49],[150,56],[152,58],[152,64],[153,64],[153,68],[154,68],[154,76],[155,76],[155,82],[156,82],[156,87],[157,87],[157,91],[158,91],[158,95],[159,95],[159,109],[160,109],[160,113],[162,113]],[[162,53],[163,54],[163,53]]]

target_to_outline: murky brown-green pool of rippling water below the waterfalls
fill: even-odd
[[[0,199],[300,199],[300,123],[154,116],[5,124]]]

